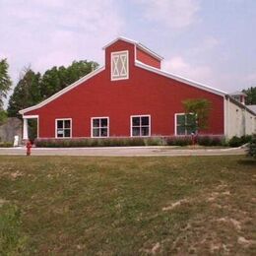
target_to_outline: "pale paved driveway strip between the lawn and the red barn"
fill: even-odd
[[[244,148],[187,149],[176,147],[113,147],[113,148],[32,148],[32,156],[91,156],[91,157],[176,157],[245,155]],[[0,148],[0,155],[26,155],[26,148]]]

